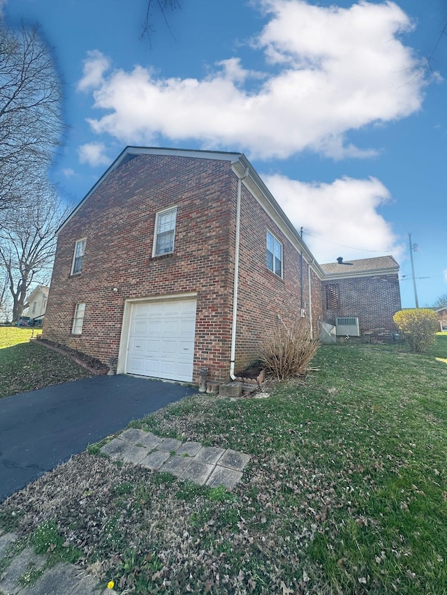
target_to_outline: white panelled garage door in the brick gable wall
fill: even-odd
[[[195,299],[134,303],[126,372],[191,382],[195,333]]]

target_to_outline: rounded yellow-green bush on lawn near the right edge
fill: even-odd
[[[432,345],[439,329],[436,312],[428,308],[399,310],[393,316],[393,320],[414,353],[425,352]]]

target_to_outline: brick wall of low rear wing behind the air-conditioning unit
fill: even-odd
[[[326,309],[325,290],[337,285],[339,308]],[[335,324],[336,317],[358,317],[361,334],[386,335],[395,331],[393,315],[401,309],[397,274],[323,281],[324,322]]]

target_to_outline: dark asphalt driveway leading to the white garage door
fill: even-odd
[[[117,375],[0,399],[0,502],[129,421],[196,392]]]

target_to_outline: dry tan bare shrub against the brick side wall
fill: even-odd
[[[318,347],[319,342],[311,338],[309,326],[295,322],[288,327],[281,321],[276,329],[266,332],[261,359],[278,380],[304,376]]]

